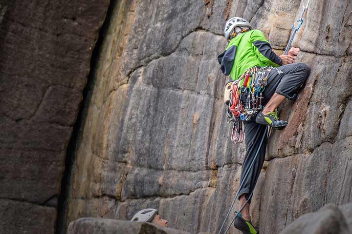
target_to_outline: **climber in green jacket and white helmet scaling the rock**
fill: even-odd
[[[251,92],[243,92],[248,89],[242,88],[240,91],[240,99],[243,102],[243,106],[246,106],[247,112],[244,113],[243,111],[241,114],[245,117],[243,124],[246,154],[242,164],[240,179],[240,184],[243,183],[243,186],[240,188],[238,197],[240,207],[244,204],[245,206],[241,214],[238,214],[235,218],[234,225],[244,234],[257,234],[258,231],[250,221],[249,205],[252,192],[264,163],[267,144],[267,138],[264,137],[264,133],[267,126],[278,130],[285,128],[288,122],[279,119],[277,108],[286,98],[296,98],[297,93],[304,86],[309,76],[310,68],[303,62],[294,62],[300,52],[299,48],[292,47],[287,55],[276,55],[269,42],[265,39],[264,33],[260,30],[254,30],[251,24],[242,18],[234,17],[228,20],[225,25],[224,36],[229,43],[225,51],[218,57],[221,71],[224,75],[230,75],[232,80],[242,78],[238,82],[238,87],[245,88],[252,87],[250,86],[251,84],[255,85],[253,82],[250,83],[251,78],[259,76],[258,73],[254,74],[255,71],[262,69],[267,74],[266,78],[264,78],[265,82],[262,80],[262,84],[265,87],[259,87],[260,92],[262,92],[260,97],[258,92],[257,96],[255,96],[254,92],[252,94]],[[248,69],[252,69],[254,73],[251,73],[251,77],[247,74],[249,78],[245,78],[243,74]],[[253,86],[249,90],[254,91],[256,88],[258,87]],[[248,95],[249,98],[247,98]],[[261,102],[261,105],[263,105],[262,109],[258,108],[258,98],[263,98]],[[261,111],[255,113],[256,110]],[[251,113],[252,116],[249,116],[248,113]],[[260,144],[261,140],[262,144]],[[250,167],[256,153],[258,156],[252,167]],[[243,174],[248,170],[248,176],[243,181]]]

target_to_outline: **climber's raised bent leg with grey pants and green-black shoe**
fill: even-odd
[[[310,73],[310,68],[303,62],[291,63],[273,69],[268,76],[264,90],[264,110],[257,117],[259,124],[283,129],[287,121],[279,120],[276,109],[285,100],[295,99]]]

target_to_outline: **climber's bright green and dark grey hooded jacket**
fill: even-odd
[[[254,66],[282,65],[282,59],[272,51],[260,30],[251,30],[234,37],[226,50],[218,56],[218,60],[222,73],[230,75],[233,80],[240,78],[248,68]]]

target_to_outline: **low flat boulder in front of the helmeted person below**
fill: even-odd
[[[69,224],[67,234],[189,234],[149,223],[107,218],[80,218]]]

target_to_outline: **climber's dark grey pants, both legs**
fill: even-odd
[[[310,68],[303,62],[287,64],[273,69],[269,73],[268,83],[265,86],[265,90],[263,92],[263,105],[265,106],[265,104],[270,100],[274,93],[281,94],[288,99],[294,99],[300,89],[304,86],[309,73]],[[259,145],[264,136],[266,127],[266,125],[256,123],[255,117],[252,117],[251,120],[244,123],[246,154],[242,164],[240,180],[240,184],[243,182],[243,185],[238,197],[240,198],[241,195],[245,194],[246,199],[249,199],[248,203],[251,202],[251,197],[249,196],[254,190],[264,164],[267,144],[266,136],[263,139],[263,143],[260,149]],[[243,181],[243,177],[249,170],[249,167],[257,151],[258,156],[256,157],[246,179]]]

